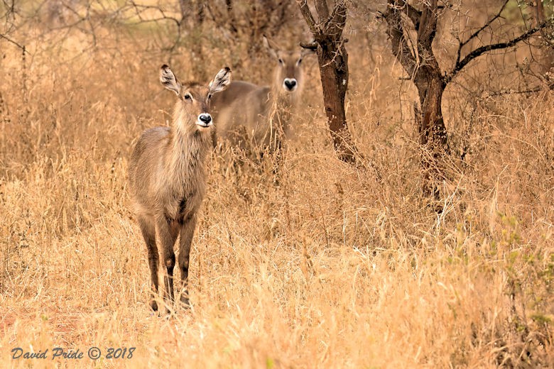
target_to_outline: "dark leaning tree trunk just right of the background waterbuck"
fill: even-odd
[[[327,1],[316,0],[317,23],[307,1],[297,0],[297,3],[314,37],[313,43],[302,46],[317,50],[325,114],[333,146],[340,160],[353,164],[356,162],[357,150],[348,131],[344,110],[344,97],[348,89],[348,53],[344,46],[346,41],[342,38],[347,19],[346,3],[343,0],[335,1],[330,12]]]

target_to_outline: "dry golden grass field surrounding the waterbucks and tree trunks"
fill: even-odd
[[[420,194],[415,89],[384,35],[349,35],[348,118],[366,165],[333,152],[310,61],[278,184],[224,155],[207,163],[192,309],[168,319],[148,307],[126,173],[141,131],[169,123],[158,68],[193,79],[194,60],[147,30],[99,30],[96,48],[77,31],[25,32],[25,57],[0,40],[0,368],[554,367],[554,97],[489,97],[516,74],[506,57],[469,67],[473,95],[447,90],[440,214]],[[205,50],[205,73],[233,53]],[[498,59],[506,70],[489,68]],[[268,81],[253,64],[234,77]],[[14,360],[16,347],[50,358]],[[85,357],[52,360],[56,347]]]

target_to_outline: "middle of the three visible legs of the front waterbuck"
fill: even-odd
[[[173,246],[178,236],[178,227],[173,219],[161,216],[156,221],[156,231],[158,242],[161,247],[163,264],[165,265],[165,303],[168,304],[168,313],[170,304],[173,304],[173,268],[175,268],[175,252]]]

